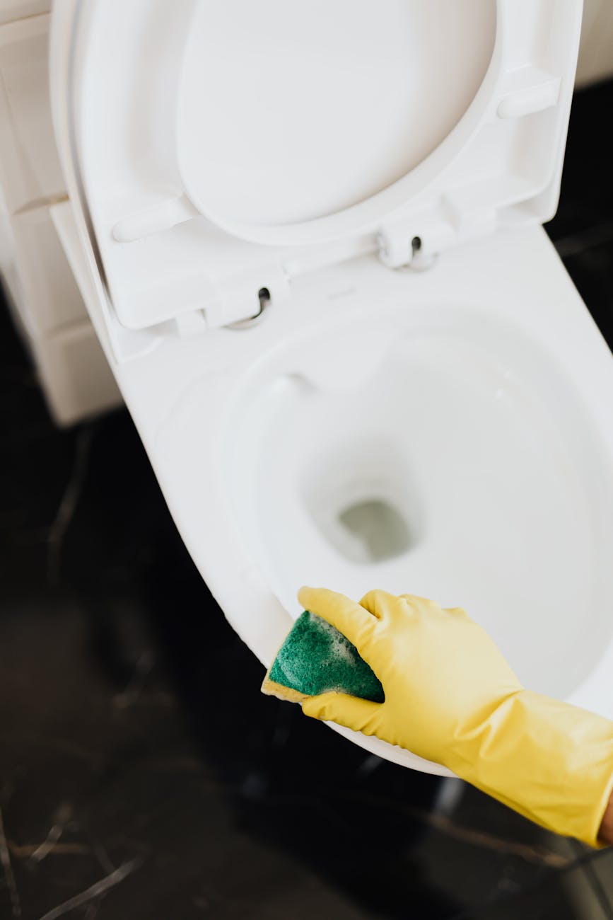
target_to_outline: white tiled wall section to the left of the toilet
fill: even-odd
[[[0,0],[0,273],[51,414],[71,424],[120,396],[51,220],[66,191],[51,123],[49,6]]]

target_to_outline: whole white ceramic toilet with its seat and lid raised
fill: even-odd
[[[613,718],[613,360],[541,226],[581,12],[56,0],[53,224],[265,665],[302,583],[381,587],[465,606],[524,684]]]

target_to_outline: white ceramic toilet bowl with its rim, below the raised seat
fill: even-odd
[[[192,557],[261,661],[300,612],[302,582],[356,597],[408,584],[465,605],[528,686],[613,717],[613,362],[540,229],[492,241],[475,286],[476,248],[448,254],[453,300],[445,279],[407,287],[365,260],[353,267],[361,309],[339,300],[331,323],[330,301],[305,287],[292,316],[271,314],[249,337],[221,332],[251,352],[177,385],[158,425],[129,406]],[[344,279],[331,270],[329,290]],[[318,383],[332,336],[349,340],[343,379]],[[373,360],[353,385],[356,355]],[[175,379],[177,354],[150,358],[139,388]],[[404,524],[382,558],[339,521],[373,501]]]

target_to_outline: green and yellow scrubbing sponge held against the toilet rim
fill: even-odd
[[[385,699],[383,687],[355,645],[321,616],[304,611],[289,630],[262,684],[262,693],[301,703],[329,690]]]

